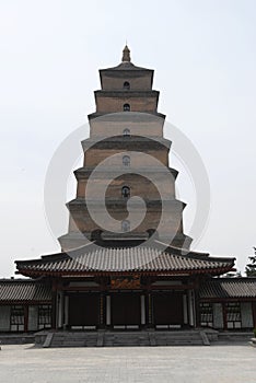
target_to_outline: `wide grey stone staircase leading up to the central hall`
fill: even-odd
[[[209,346],[203,330],[50,332],[43,347]]]

